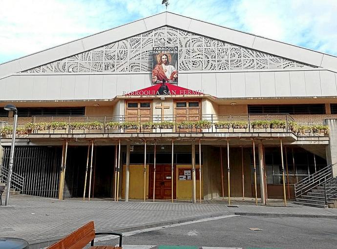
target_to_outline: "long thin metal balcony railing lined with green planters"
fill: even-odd
[[[204,120],[206,122],[195,123]],[[279,121],[275,123],[275,121]],[[32,116],[19,117],[18,126],[28,123],[63,123],[63,127],[35,129],[32,133],[85,134],[85,133],[235,133],[235,132],[292,132],[297,136],[326,136],[322,132],[295,131],[292,129],[294,118],[289,114],[175,114],[175,115],[86,115],[86,116]],[[100,127],[75,127],[76,123],[98,122]],[[119,123],[120,127],[111,128],[108,123]],[[150,125],[149,123],[152,123]],[[166,124],[165,124],[166,123]],[[65,124],[65,126],[64,126]],[[8,123],[10,125],[10,122]]]

